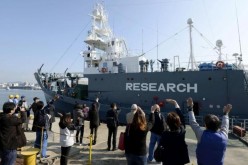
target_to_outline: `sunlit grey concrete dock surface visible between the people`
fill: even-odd
[[[48,146],[48,155],[50,159],[42,160],[38,164],[54,164],[59,165],[60,157],[60,146],[59,146],[59,119],[56,118],[56,122],[53,124],[53,132],[49,132],[49,146]],[[32,121],[31,121],[32,122]],[[31,127],[31,126],[30,126]],[[98,140],[97,144],[93,146],[92,149],[92,164],[93,165],[125,165],[126,159],[124,151],[107,151],[107,127],[105,124],[101,124],[98,129]],[[118,138],[121,131],[124,130],[124,127],[118,128]],[[32,143],[35,139],[35,133],[26,132],[26,137],[30,141],[28,147],[32,146]],[[85,122],[85,137],[89,135],[89,122]],[[195,159],[195,149],[196,149],[196,139],[195,135],[192,132],[191,128],[187,126],[187,135],[186,141],[188,144],[190,163],[189,165],[196,165]],[[149,144],[150,134],[147,136],[147,145]],[[85,145],[79,146],[74,145],[70,152],[69,164],[81,165],[88,164],[89,160],[89,139],[84,138]],[[241,143],[235,136],[229,136],[228,147],[225,156],[225,165],[246,165],[248,162],[248,147]],[[38,158],[39,160],[39,158]],[[156,164],[155,162],[153,164]]]

